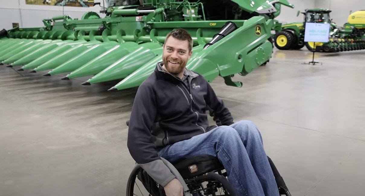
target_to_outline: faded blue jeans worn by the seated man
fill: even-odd
[[[166,146],[158,154],[170,162],[199,154],[218,157],[238,196],[279,196],[260,131],[251,121],[216,127]]]

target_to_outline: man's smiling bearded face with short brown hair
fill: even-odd
[[[170,36],[164,45],[162,61],[167,72],[178,75],[184,72],[185,66],[193,51],[189,52],[189,42]]]

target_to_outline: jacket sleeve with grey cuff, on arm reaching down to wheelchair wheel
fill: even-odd
[[[153,127],[157,104],[152,84],[138,88],[129,120],[127,146],[132,158],[149,176],[165,187],[175,176],[162,162],[153,142]]]

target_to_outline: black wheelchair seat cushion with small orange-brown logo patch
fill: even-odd
[[[218,158],[212,155],[195,155],[172,164],[184,180],[224,169]]]

